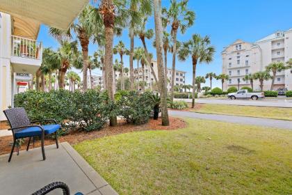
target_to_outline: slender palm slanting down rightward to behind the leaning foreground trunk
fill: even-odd
[[[151,39],[154,36],[154,32],[152,29],[146,30],[146,22],[147,22],[147,17],[144,17],[143,24],[137,25],[134,33],[136,36],[139,36],[141,42],[143,43],[143,48],[144,48],[145,54],[147,56],[147,65],[151,69],[153,77],[154,77],[155,81],[157,82],[158,80],[157,80],[156,74],[155,74],[154,69],[151,65],[152,59],[149,56],[148,49],[147,49],[146,42],[145,42],[145,38]]]

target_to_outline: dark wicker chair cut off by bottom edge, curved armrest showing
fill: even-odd
[[[53,191],[54,189],[58,189],[58,188],[63,190],[63,195],[70,195],[70,189],[64,182],[52,182],[49,185],[42,187],[42,189],[39,189],[37,192],[34,192],[31,195],[49,194],[49,192]],[[83,195],[83,194],[81,192],[78,192],[75,195]]]

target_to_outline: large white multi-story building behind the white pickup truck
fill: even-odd
[[[275,33],[250,43],[236,40],[222,52],[222,73],[229,75],[223,86],[226,91],[230,86],[250,87],[250,81],[243,81],[245,75],[266,70],[272,62],[286,62],[292,59],[292,29]],[[263,82],[263,90],[269,90],[271,80]],[[275,86],[292,90],[292,70],[277,72]],[[259,81],[254,80],[254,90],[259,91]]]

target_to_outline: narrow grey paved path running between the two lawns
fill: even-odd
[[[207,120],[219,120],[228,123],[239,123],[243,125],[258,125],[262,127],[275,127],[280,129],[292,130],[292,121],[290,120],[274,120],[269,118],[254,118],[245,116],[229,116],[222,114],[200,114],[190,111],[172,111],[169,110],[170,116],[180,116],[188,118],[199,118]]]

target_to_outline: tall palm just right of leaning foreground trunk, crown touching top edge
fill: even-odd
[[[175,84],[175,58],[177,56],[177,31],[180,29],[181,33],[185,33],[186,29],[193,25],[195,20],[195,13],[188,10],[188,0],[177,2],[176,0],[170,1],[170,8],[167,10],[163,8],[166,24],[171,25],[171,34],[173,41],[172,52],[172,77],[170,91],[170,100],[173,101],[173,86]]]

